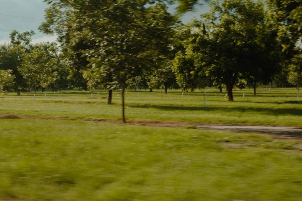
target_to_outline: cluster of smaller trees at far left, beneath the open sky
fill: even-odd
[[[0,46],[0,90],[14,88],[36,92],[37,87],[67,87],[68,71],[55,42],[31,43],[34,32],[10,34],[11,42]]]

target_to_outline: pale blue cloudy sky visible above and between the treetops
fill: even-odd
[[[203,0],[200,0],[203,2]],[[175,11],[175,5],[169,9]],[[41,33],[39,25],[44,21],[44,11],[48,8],[43,0],[0,0],[0,45],[10,41],[9,34],[12,30],[19,33],[33,30],[32,43],[54,42],[55,36]],[[198,6],[196,12],[188,12],[182,16],[182,22],[190,21],[194,16],[199,17],[201,13],[209,11],[209,5],[204,3]]]

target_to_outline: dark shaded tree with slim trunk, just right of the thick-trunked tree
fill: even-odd
[[[272,19],[274,14],[265,9],[262,1],[248,6],[247,11],[240,14],[244,20],[241,22],[244,42],[242,57],[246,60],[242,79],[253,86],[256,96],[256,83],[269,83],[280,72],[282,49],[278,41],[278,26]]]

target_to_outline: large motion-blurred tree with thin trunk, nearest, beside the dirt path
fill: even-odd
[[[126,81],[148,68],[152,58],[169,50],[175,17],[167,12],[163,1],[63,1],[45,0],[51,4],[47,22],[40,27],[47,33],[58,33],[67,45],[85,41],[88,49],[82,55],[101,77],[112,77],[121,85],[122,116]]]

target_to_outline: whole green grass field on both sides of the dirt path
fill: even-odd
[[[128,91],[126,118],[302,126],[295,89],[205,92]],[[0,119],[0,200],[302,199],[301,138],[96,123],[121,118],[118,95],[4,95],[0,115],[19,117]]]

